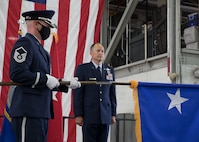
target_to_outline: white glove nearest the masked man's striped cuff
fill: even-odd
[[[47,82],[46,85],[48,86],[48,88],[50,90],[52,90],[53,88],[56,88],[60,85],[59,81],[57,78],[55,78],[54,76],[51,76],[49,74],[46,74],[47,76]]]

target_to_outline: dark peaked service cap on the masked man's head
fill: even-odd
[[[50,25],[51,28],[56,28],[56,25],[51,22],[51,18],[55,14],[53,10],[35,10],[22,13],[25,20],[42,20]]]

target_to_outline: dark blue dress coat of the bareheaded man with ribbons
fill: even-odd
[[[102,65],[102,76],[92,62],[77,67],[75,76],[80,81],[114,81],[112,67]],[[116,116],[115,85],[82,85],[74,90],[75,116],[83,116],[86,124],[110,124]]]

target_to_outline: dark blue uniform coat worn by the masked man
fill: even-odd
[[[39,41],[27,33],[11,52],[10,79],[24,85],[14,89],[11,117],[52,118],[52,92],[46,86],[50,58]]]

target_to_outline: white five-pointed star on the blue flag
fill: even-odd
[[[172,109],[173,107],[176,107],[177,110],[179,111],[179,113],[182,114],[181,104],[186,102],[189,99],[180,97],[180,89],[179,88],[176,91],[175,95],[174,94],[170,94],[170,93],[167,93],[167,95],[168,95],[168,97],[171,100],[168,110]]]

